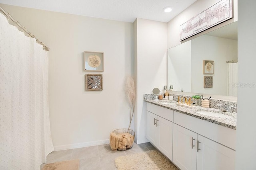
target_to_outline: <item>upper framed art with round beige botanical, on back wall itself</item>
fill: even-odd
[[[84,51],[84,71],[104,71],[104,53]]]

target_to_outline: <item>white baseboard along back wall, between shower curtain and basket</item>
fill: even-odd
[[[85,142],[85,143],[74,143],[70,145],[59,145],[54,146],[54,151],[57,150],[66,150],[66,149],[76,149],[76,148],[83,148],[83,147],[91,147],[95,145],[104,145],[109,144],[109,139],[101,140],[101,141],[92,141],[92,142]]]

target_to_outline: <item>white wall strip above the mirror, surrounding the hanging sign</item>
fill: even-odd
[[[183,23],[185,23],[186,21],[190,20],[192,17],[196,16],[197,14],[199,14],[200,12],[206,10],[207,8],[209,8],[210,6],[216,4],[217,2],[219,2],[220,0],[197,0],[194,4],[192,4],[191,6],[189,6],[186,10],[184,10],[183,12],[181,12],[180,14],[178,14],[175,18],[173,18],[172,20],[170,20],[167,23],[167,47],[168,49],[171,47],[174,47],[178,44],[180,44],[180,25],[182,25]],[[213,31],[215,29],[218,29],[220,27],[223,27],[224,25],[228,25],[229,23],[232,23],[234,21],[237,21],[237,1],[238,0],[233,0],[233,4],[234,4],[234,18],[225,21],[224,23],[220,23],[218,25],[215,25],[214,27],[207,29],[201,33],[198,33],[182,42],[186,42],[189,41],[190,39],[193,39],[195,37],[198,37],[200,35],[203,35],[205,33],[208,33],[210,31]]]

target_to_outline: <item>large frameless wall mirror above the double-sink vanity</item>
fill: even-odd
[[[237,22],[168,49],[169,88],[237,96]]]

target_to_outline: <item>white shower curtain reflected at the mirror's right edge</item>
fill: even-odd
[[[228,63],[228,96],[237,96],[238,63]]]

